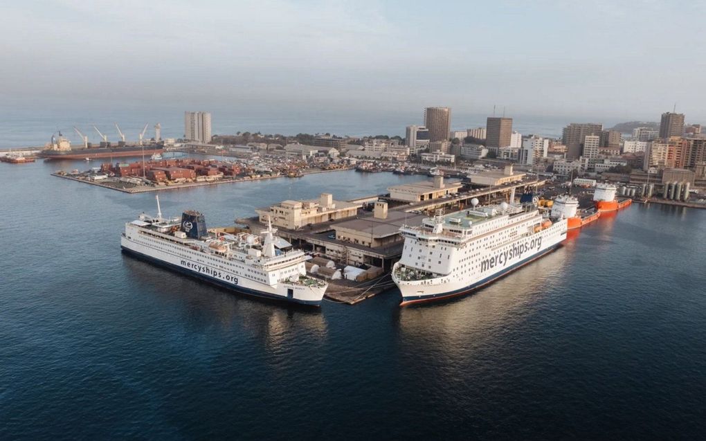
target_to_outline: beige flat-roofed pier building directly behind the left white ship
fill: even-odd
[[[345,200],[333,200],[330,193],[321,193],[321,197],[311,200],[284,200],[266,208],[258,208],[260,222],[286,229],[300,229],[307,225],[321,224],[337,219],[354,217],[362,205]]]

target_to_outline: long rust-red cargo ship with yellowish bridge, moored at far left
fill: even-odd
[[[101,143],[100,147],[85,147],[72,148],[71,142],[61,135],[52,135],[51,142],[47,148],[39,154],[46,160],[58,159],[99,159],[99,158],[115,158],[115,157],[135,157],[141,155],[160,155],[164,152],[164,146],[159,144],[152,145],[118,145],[113,147],[109,143]]]

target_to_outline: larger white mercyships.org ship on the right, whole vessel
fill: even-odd
[[[566,219],[554,223],[534,206],[478,207],[402,226],[402,258],[393,281],[402,305],[460,296],[554,250],[566,238]]]

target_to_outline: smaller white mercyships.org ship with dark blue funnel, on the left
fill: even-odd
[[[198,212],[163,218],[158,198],[157,212],[125,224],[124,253],[243,294],[321,304],[328,284],[306,276],[304,251],[275,236],[271,224],[261,238],[234,227],[207,230]]]

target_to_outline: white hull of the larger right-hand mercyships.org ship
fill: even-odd
[[[522,229],[522,226],[517,228]],[[474,243],[466,243],[459,248],[446,246],[438,257],[439,248],[430,248],[433,241],[418,243],[414,238],[407,238],[404,251],[407,254],[395,263],[392,272],[393,281],[402,294],[401,304],[404,306],[467,294],[551,253],[566,239],[566,230],[566,219],[561,219],[535,234],[518,237],[514,241],[502,241],[491,248],[482,242],[475,246]],[[415,260],[417,255],[421,260]],[[441,265],[435,267],[433,276],[430,274],[429,277],[413,280],[400,277],[402,267],[417,269],[426,257],[429,261],[441,259],[438,261]]]

